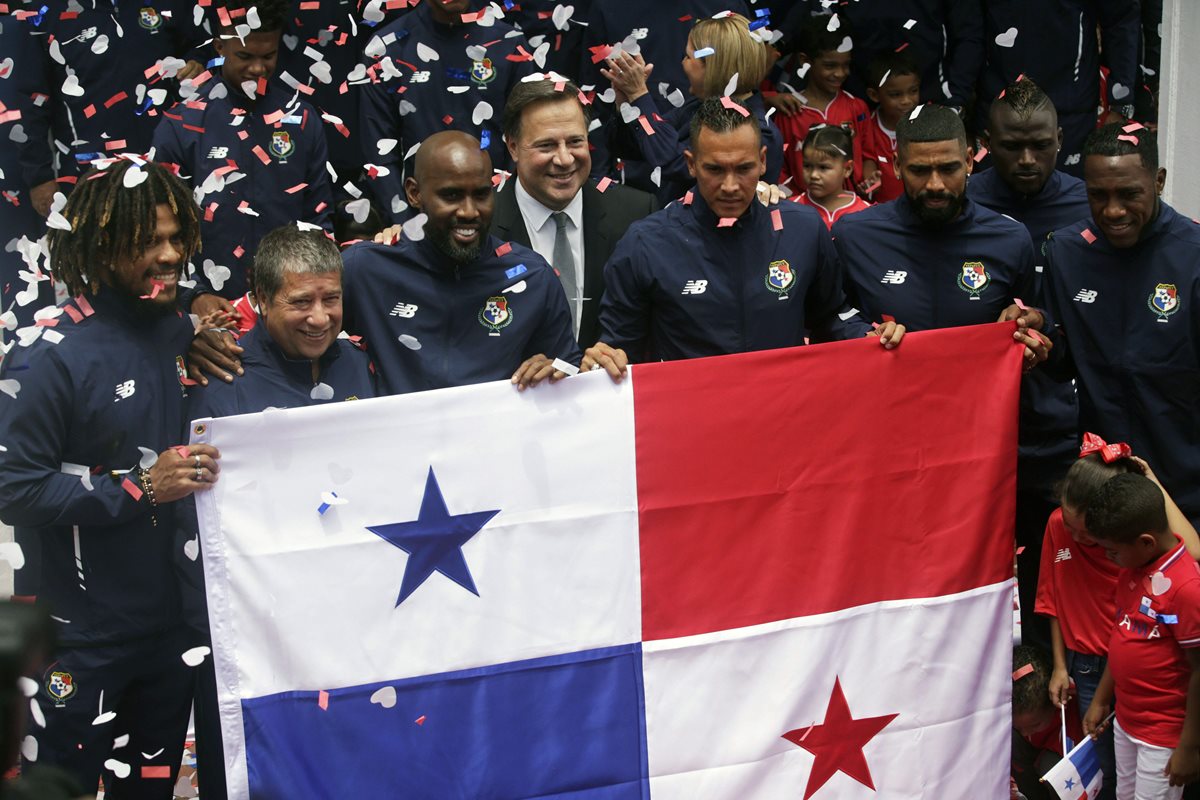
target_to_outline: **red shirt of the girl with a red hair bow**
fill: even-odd
[[[1058,619],[1069,649],[1103,656],[1109,651],[1117,610],[1114,593],[1118,572],[1121,567],[1109,560],[1104,548],[1075,542],[1062,523],[1062,509],[1055,509],[1042,539],[1033,610]]]

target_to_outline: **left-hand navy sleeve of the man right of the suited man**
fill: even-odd
[[[605,290],[600,299],[600,341],[625,350],[641,361],[650,332],[650,282],[643,275],[641,236],[630,233],[617,242],[604,267]]]

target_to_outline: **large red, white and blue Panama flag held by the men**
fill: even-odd
[[[232,795],[1007,796],[1013,330],[194,422]]]

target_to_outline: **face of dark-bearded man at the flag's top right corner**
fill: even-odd
[[[944,225],[966,203],[971,149],[956,139],[910,142],[896,154],[895,172],[920,221]]]

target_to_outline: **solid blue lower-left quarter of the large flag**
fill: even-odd
[[[644,704],[641,644],[251,698],[250,796],[647,800]]]

